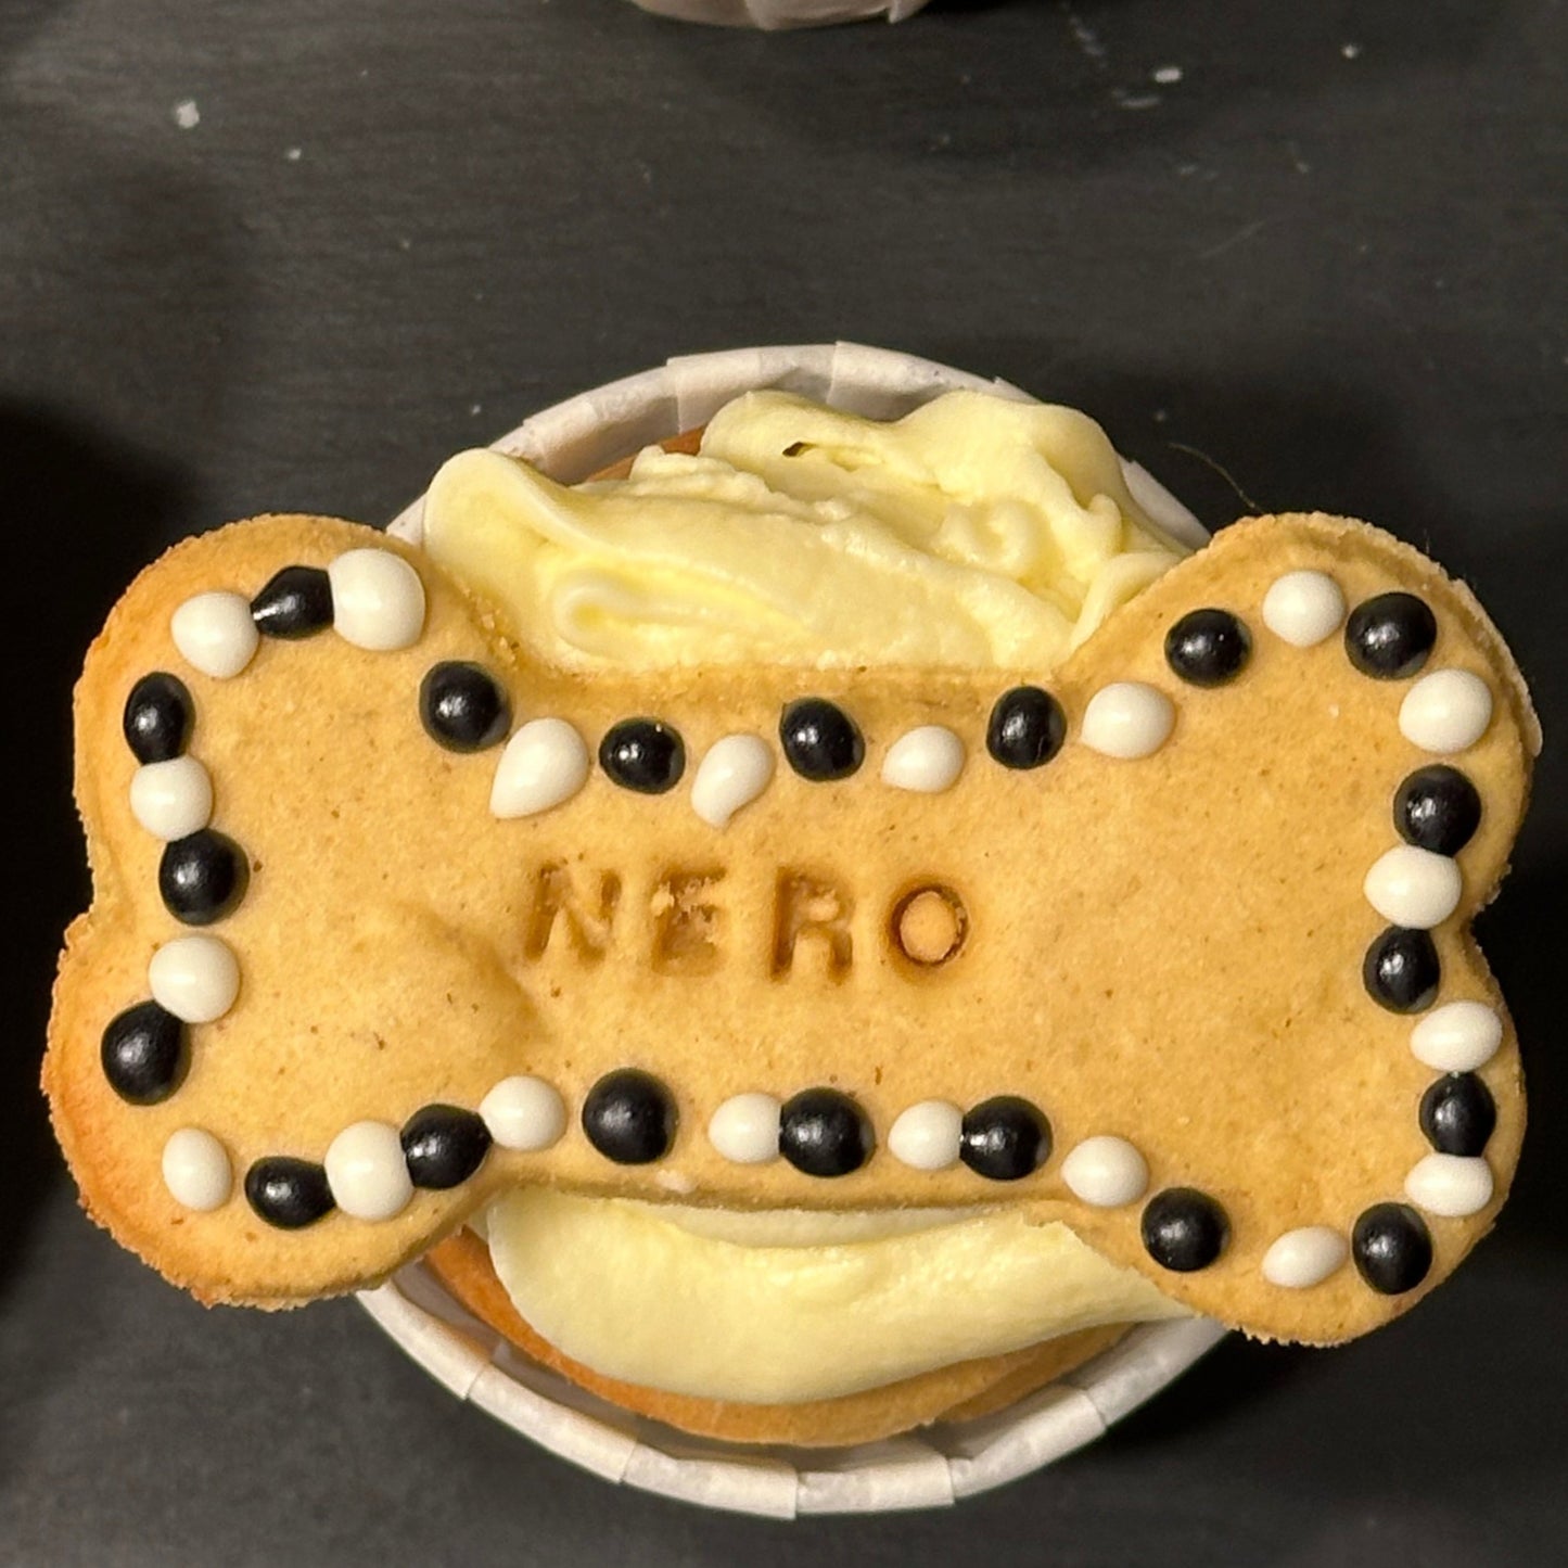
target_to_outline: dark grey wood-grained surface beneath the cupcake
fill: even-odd
[[[1088,408],[1210,522],[1377,519],[1475,583],[1568,732],[1565,58],[1551,0],[938,3],[767,38],[624,0],[0,0],[0,1560],[1568,1560],[1551,751],[1482,925],[1534,1094],[1497,1234],[1394,1328],[1228,1344],[947,1515],[619,1493],[353,1305],[204,1312],[77,1214],[33,1090],[86,894],[69,684],[135,568],[263,508],[383,519],[671,353],[906,348]]]

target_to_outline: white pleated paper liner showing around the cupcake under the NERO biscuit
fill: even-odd
[[[494,445],[572,485],[706,423],[756,387],[782,387],[873,419],[895,419],[953,387],[1027,398],[1005,381],[858,343],[737,348],[671,359],[583,392]],[[1152,475],[1134,463],[1123,469],[1156,522],[1192,546],[1204,543],[1198,519]],[[390,532],[417,544],[422,510],[416,502]],[[693,1438],[579,1389],[469,1316],[422,1264],[359,1300],[431,1377],[552,1454],[663,1497],[770,1518],[933,1508],[989,1491],[1091,1443],[1225,1333],[1203,1319],[1146,1323],[994,1416],[939,1422],[886,1443],[790,1449]]]

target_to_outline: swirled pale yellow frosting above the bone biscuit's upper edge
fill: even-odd
[[[947,392],[895,422],[751,392],[695,455],[568,488],[464,452],[425,547],[563,668],[768,662],[1049,673],[1185,547],[1091,419]]]

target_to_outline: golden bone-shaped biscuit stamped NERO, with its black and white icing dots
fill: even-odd
[[[1468,935],[1538,750],[1507,651],[1417,552],[1286,516],[1027,682],[585,677],[372,530],[180,544],[77,693],[44,1077],[88,1209],[292,1305],[522,1181],[1014,1203],[1251,1334],[1375,1327],[1524,1127]]]

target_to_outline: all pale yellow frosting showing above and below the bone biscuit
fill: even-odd
[[[560,668],[906,665],[1046,676],[1187,554],[1087,416],[947,392],[877,422],[751,392],[696,453],[563,486],[491,450],[425,547]],[[608,1377],[829,1399],[1099,1323],[1184,1316],[1018,1210],[740,1214],[527,1189],[483,1225],[522,1317]]]

